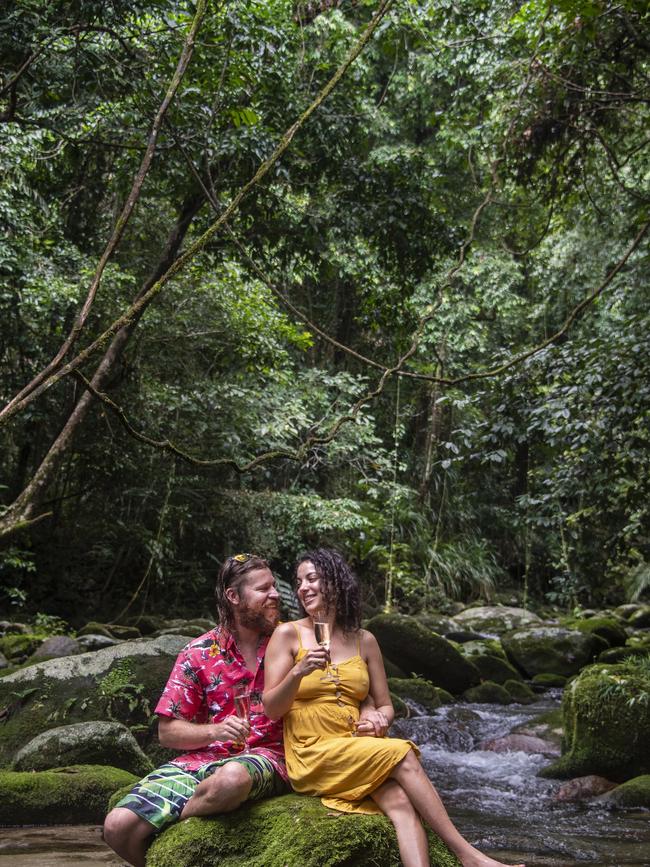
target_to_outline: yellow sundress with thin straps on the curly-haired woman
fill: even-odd
[[[307,652],[298,633],[296,660]],[[359,654],[330,666],[337,683],[323,683],[320,669],[303,677],[284,717],[284,751],[291,785],[305,795],[321,795],[326,807],[347,813],[381,813],[368,795],[384,783],[409,750],[411,741],[354,736],[359,705],[370,679]]]

